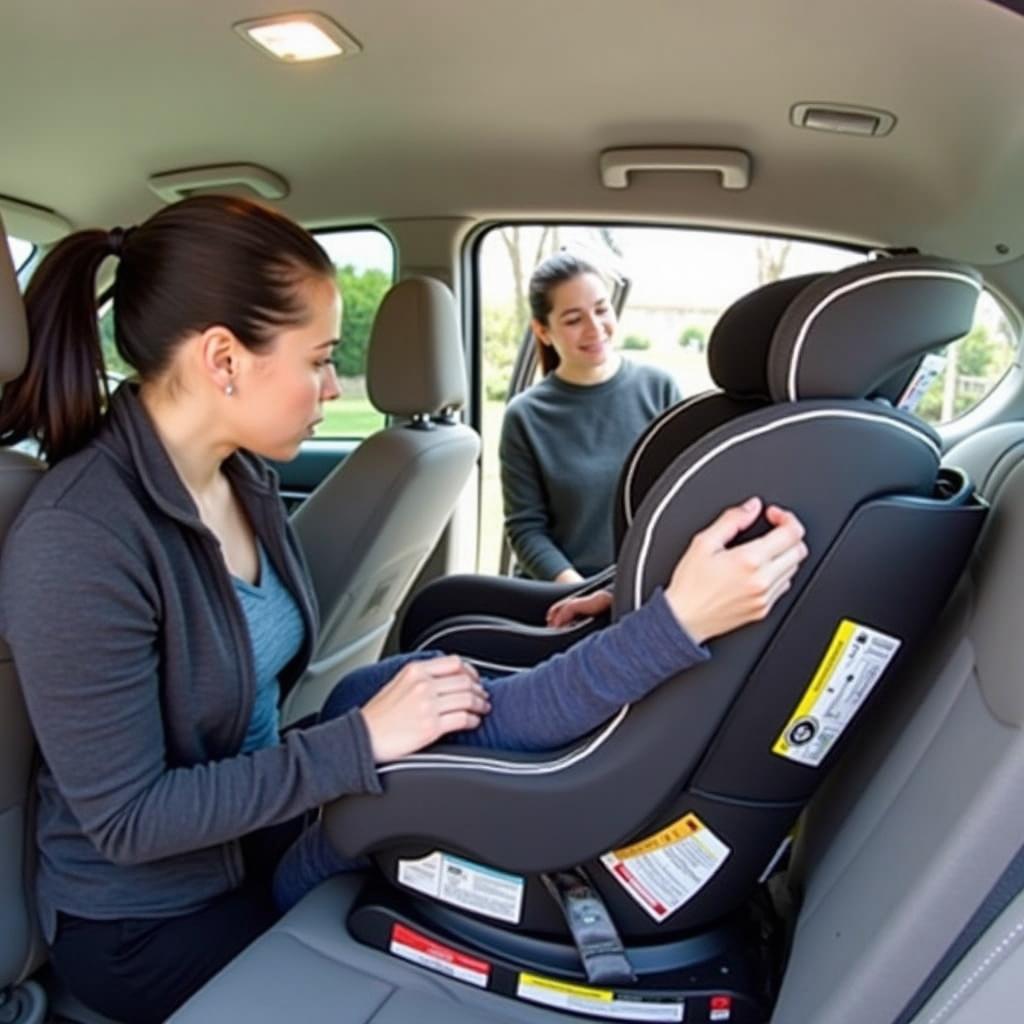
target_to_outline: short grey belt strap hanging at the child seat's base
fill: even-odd
[[[587,980],[594,985],[624,985],[636,981],[611,914],[587,877],[575,868],[552,871],[541,878],[561,907]]]

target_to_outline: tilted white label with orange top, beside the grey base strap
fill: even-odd
[[[703,889],[729,853],[695,814],[686,814],[639,843],[604,854],[601,863],[660,923]]]

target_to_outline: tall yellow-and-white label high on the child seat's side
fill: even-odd
[[[772,751],[817,768],[874,689],[901,641],[844,618]]]

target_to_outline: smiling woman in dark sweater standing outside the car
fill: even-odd
[[[578,583],[614,561],[623,463],[681,395],[667,373],[614,350],[615,311],[593,264],[549,257],[530,278],[529,306],[545,376],[505,413],[505,531],[526,575]]]

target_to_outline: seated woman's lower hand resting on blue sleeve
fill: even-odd
[[[475,729],[490,711],[476,670],[455,654],[410,662],[364,705],[374,761],[394,761],[447,732]]]

